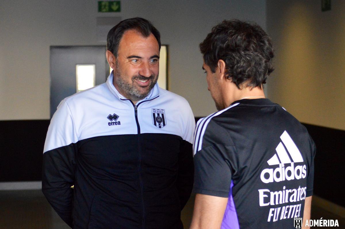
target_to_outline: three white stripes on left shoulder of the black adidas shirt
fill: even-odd
[[[227,111],[230,108],[237,106],[238,104],[239,103],[235,103],[235,104],[231,105],[230,107],[227,107],[223,110],[220,110],[216,113],[213,113],[213,114],[203,118],[202,120],[200,119],[198,121],[198,125],[197,125],[197,128],[195,129],[195,135],[194,135],[193,155],[195,155],[199,150],[201,150],[201,146],[203,145],[203,137],[205,134],[205,130],[206,130],[208,123],[211,121],[211,119],[213,117],[220,115],[224,111]]]

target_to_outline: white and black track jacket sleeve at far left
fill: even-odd
[[[73,227],[73,189],[77,134],[63,100],[53,115],[43,150],[42,192],[63,221]]]

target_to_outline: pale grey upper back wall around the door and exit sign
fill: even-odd
[[[49,46],[101,45],[96,17],[143,17],[169,45],[170,90],[195,116],[214,112],[198,44],[223,19],[266,29],[266,2],[122,0],[121,12],[98,13],[97,1],[0,1],[0,120],[49,119]]]

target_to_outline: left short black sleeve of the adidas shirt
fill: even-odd
[[[235,146],[227,132],[214,122],[210,122],[205,129],[204,135],[196,137],[203,142],[201,149],[194,155],[193,192],[228,197],[236,161]]]

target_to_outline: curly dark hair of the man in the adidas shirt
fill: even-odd
[[[200,43],[200,51],[212,72],[218,60],[226,65],[226,76],[237,86],[261,87],[272,66],[273,46],[270,37],[257,24],[224,20]]]

